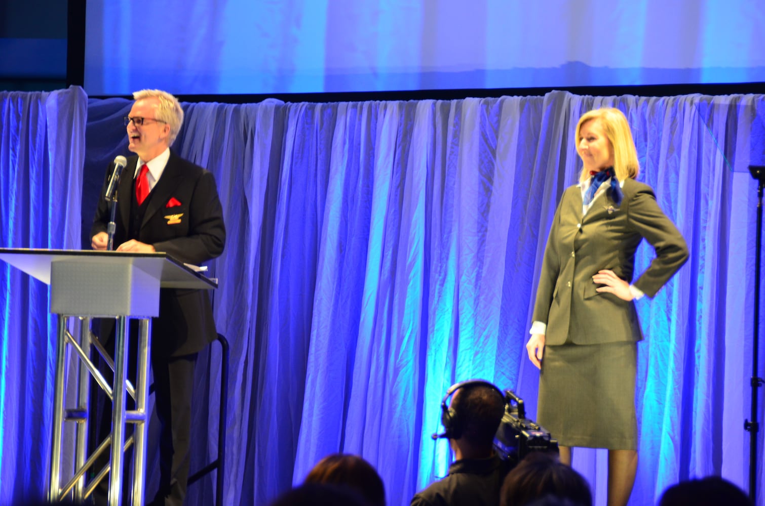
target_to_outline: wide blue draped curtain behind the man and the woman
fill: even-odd
[[[765,161],[765,97],[186,104],[174,148],[215,174],[229,231],[210,266],[216,322],[232,344],[226,504],[267,504],[338,451],[376,466],[388,504],[409,504],[448,465],[446,443],[430,434],[455,381],[513,388],[535,417],[539,373],[524,344],[542,251],[581,167],[575,124],[612,105],[633,128],[639,179],[691,250],[656,298],[637,303],[646,341],[631,504],[709,474],[747,488],[756,204],[747,165]],[[86,188],[125,151],[129,106],[90,101]],[[86,193],[92,213],[97,191]],[[636,271],[651,255],[639,249]],[[15,297],[26,310],[24,292]],[[25,359],[15,352],[6,367]],[[219,368],[213,345],[200,357],[193,469],[216,450]],[[7,394],[3,409],[20,416]],[[759,452],[765,482],[761,434]],[[575,452],[574,465],[603,503],[605,453]],[[212,478],[191,485],[189,504],[210,504],[211,488]]]

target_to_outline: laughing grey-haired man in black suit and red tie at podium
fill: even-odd
[[[128,149],[135,156],[128,157],[116,189],[116,251],[164,251],[197,265],[216,258],[223,252],[226,229],[213,174],[170,149],[184,120],[181,105],[170,93],[157,89],[135,92],[133,98],[125,125]],[[112,170],[114,164],[108,174]],[[109,220],[105,184],[90,230],[93,249],[106,250]],[[98,332],[112,353],[114,329],[114,319],[103,319]],[[216,335],[207,290],[160,290],[159,316],[151,323],[151,370],[155,409],[161,423],[161,477],[160,489],[151,504],[180,506],[184,501],[194,365],[197,353]],[[137,332],[131,328],[128,371],[133,381],[135,336]],[[99,441],[109,433],[110,421],[106,412],[97,423]],[[97,489],[99,494],[94,493],[96,503],[106,499],[104,482]]]

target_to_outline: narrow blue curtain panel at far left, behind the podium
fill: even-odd
[[[81,88],[0,92],[0,246],[80,248],[86,121]],[[56,320],[46,284],[0,262],[0,285],[0,504],[20,504],[47,484]]]

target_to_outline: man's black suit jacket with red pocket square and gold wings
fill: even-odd
[[[226,242],[226,229],[213,174],[172,151],[164,172],[148,196],[137,235],[128,237],[137,161],[137,156],[128,158],[119,180],[115,247],[136,239],[190,264],[202,264],[219,256]],[[112,168],[109,167],[107,177]],[[105,193],[106,186],[90,229],[91,237],[106,232],[109,223]],[[174,205],[176,203],[180,205]],[[107,328],[102,326],[102,336],[109,332],[108,326],[113,328],[113,325],[114,320],[106,320]],[[152,320],[151,336],[152,355],[166,356],[198,352],[216,339],[207,290],[160,290],[159,316]]]

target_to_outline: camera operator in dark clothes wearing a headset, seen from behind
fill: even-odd
[[[488,381],[463,381],[448,389],[441,401],[444,433],[433,437],[448,438],[454,462],[446,477],[412,498],[412,506],[500,504],[509,468],[493,451],[493,441],[504,412],[502,392]]]

